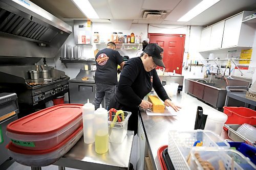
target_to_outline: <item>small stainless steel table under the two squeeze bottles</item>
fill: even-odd
[[[128,169],[132,151],[134,131],[127,131],[122,143],[109,142],[109,151],[95,152],[95,144],[83,142],[83,136],[75,146],[55,165],[77,169]]]

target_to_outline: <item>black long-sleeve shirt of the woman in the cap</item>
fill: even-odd
[[[147,72],[140,57],[132,58],[124,64],[115,98],[122,105],[138,108],[141,100],[152,90],[152,87],[161,100],[165,101],[169,98],[156,69]]]

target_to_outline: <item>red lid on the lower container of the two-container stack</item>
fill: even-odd
[[[58,145],[56,145],[55,147],[48,149],[48,150],[26,150],[26,149],[22,149],[22,148],[18,148],[16,147],[12,142],[10,142],[9,144],[6,145],[6,148],[11,150],[12,152],[15,153],[19,153],[19,154],[26,154],[26,155],[44,155],[44,154],[48,154],[50,152],[54,152],[56,150],[58,150],[59,148],[61,148],[63,145],[65,145],[69,140],[71,140],[72,138],[74,138],[80,131],[82,130],[82,126],[80,126],[80,128],[78,128],[72,135],[70,135],[68,138],[66,138],[65,140],[63,140],[62,142],[60,142]]]

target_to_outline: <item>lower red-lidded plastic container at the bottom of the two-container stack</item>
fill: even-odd
[[[65,155],[81,138],[82,127],[63,140],[54,148],[48,150],[26,150],[16,147],[12,142],[7,145],[8,154],[18,163],[26,166],[48,166]]]

